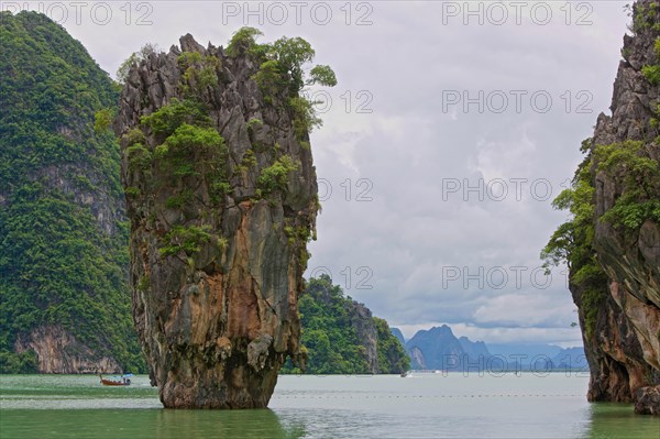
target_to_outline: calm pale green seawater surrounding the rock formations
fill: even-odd
[[[270,409],[164,409],[146,376],[0,375],[0,438],[660,438],[583,373],[279,377]]]

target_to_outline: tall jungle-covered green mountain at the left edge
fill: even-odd
[[[0,12],[0,372],[140,372],[118,90],[45,15]]]

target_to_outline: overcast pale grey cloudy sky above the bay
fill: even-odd
[[[112,76],[143,44],[302,36],[339,85],[310,90],[322,213],[308,275],[399,327],[581,344],[539,251],[612,84],[627,1],[36,2]],[[25,2],[0,2],[3,10]]]

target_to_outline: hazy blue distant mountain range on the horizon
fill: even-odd
[[[413,370],[439,371],[558,371],[588,366],[583,348],[553,344],[491,344],[457,338],[447,325],[420,330],[406,341],[398,328],[392,333],[404,343]]]

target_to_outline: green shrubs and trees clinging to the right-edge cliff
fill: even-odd
[[[552,202],[556,209],[569,210],[572,218],[554,231],[541,257],[547,267],[566,263],[569,281],[581,292],[587,339],[593,336],[608,283],[594,249],[596,222],[606,221],[624,231],[637,232],[647,219],[660,221],[660,200],[653,195],[660,191],[660,166],[644,149],[640,141],[592,146],[592,140],[585,140],[582,151],[588,154],[575,172],[572,188],[564,189]],[[595,216],[593,172],[623,183],[623,193],[600,218]]]

